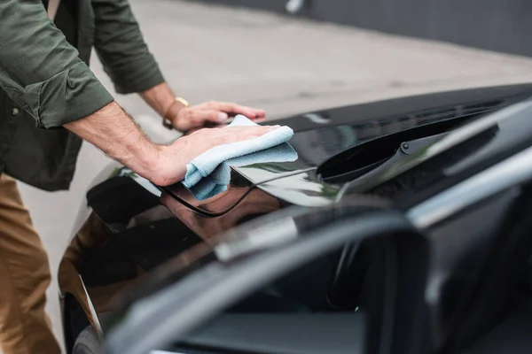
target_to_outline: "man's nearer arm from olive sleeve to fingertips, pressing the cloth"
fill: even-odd
[[[181,181],[186,164],[213,146],[273,128],[202,129],[153,144],[77,58],[41,0],[0,1],[0,48],[0,86],[39,127],[64,126],[159,185]]]

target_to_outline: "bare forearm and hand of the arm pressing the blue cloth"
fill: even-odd
[[[278,126],[200,129],[170,145],[157,145],[113,102],[64,127],[156,185],[168,186],[183,181],[186,165],[210,148],[253,139]]]

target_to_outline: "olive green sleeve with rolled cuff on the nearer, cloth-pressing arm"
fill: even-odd
[[[45,128],[113,101],[48,19],[42,0],[0,1],[0,87]]]

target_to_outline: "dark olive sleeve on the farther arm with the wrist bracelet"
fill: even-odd
[[[92,0],[94,48],[117,92],[151,89],[164,81],[127,0]]]

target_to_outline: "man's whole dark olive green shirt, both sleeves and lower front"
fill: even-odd
[[[43,0],[0,1],[0,170],[47,190],[68,188],[81,147],[61,126],[113,101],[88,66],[92,47],[119,93],[164,81],[127,0],[62,1],[77,2],[76,48]]]

